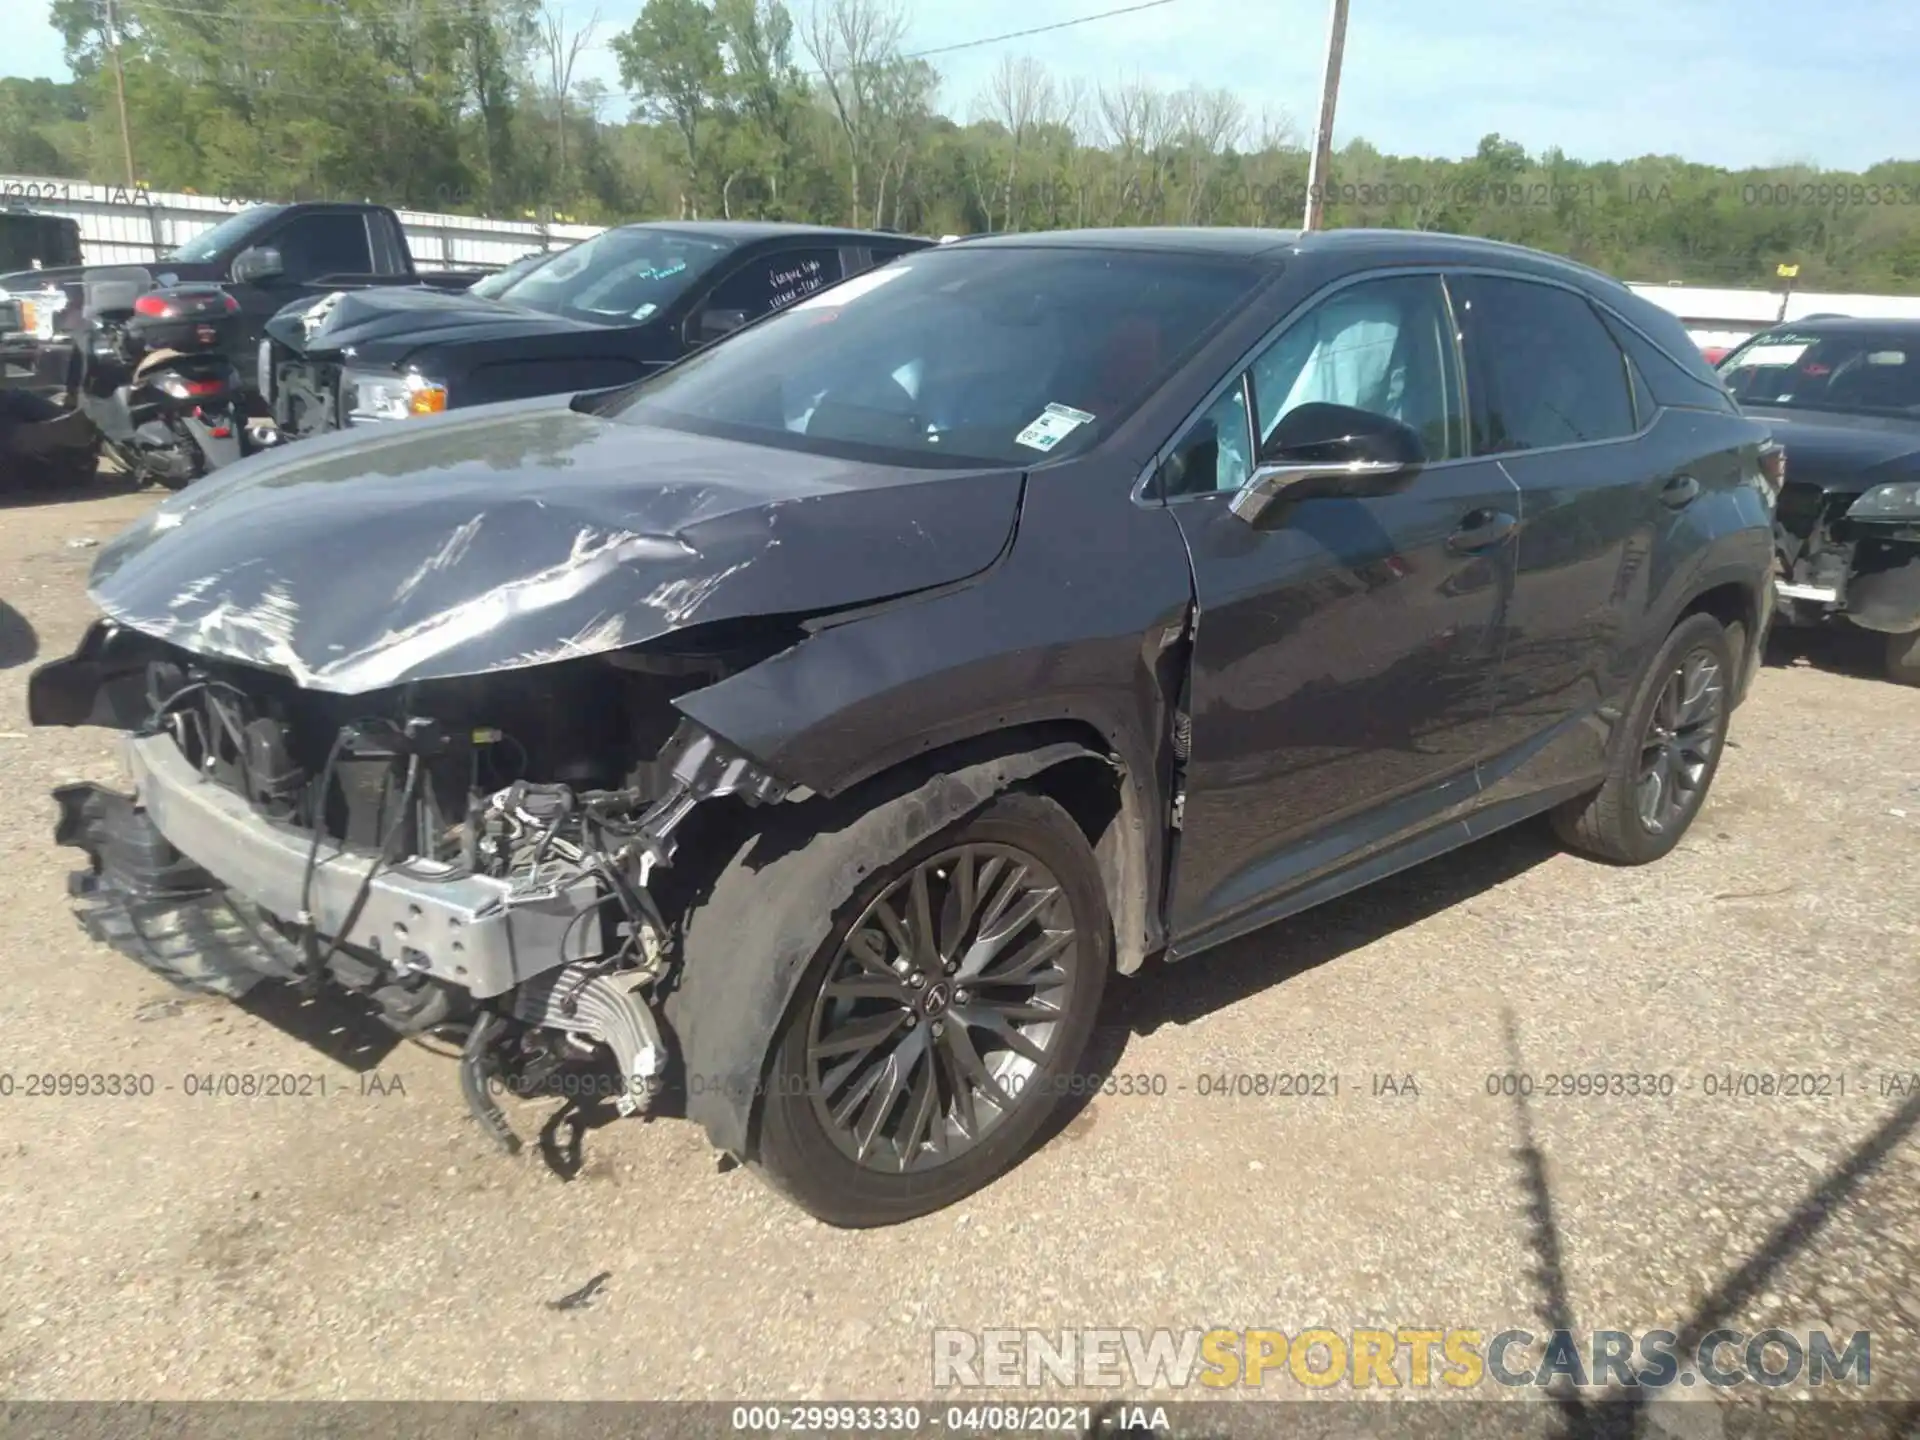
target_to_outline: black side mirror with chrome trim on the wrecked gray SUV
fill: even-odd
[[[1254,474],[1233,497],[1248,524],[1279,499],[1390,495],[1427,465],[1419,432],[1386,415],[1313,401],[1281,417]]]

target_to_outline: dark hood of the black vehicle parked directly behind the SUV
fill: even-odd
[[[288,349],[313,357],[351,349],[355,359],[376,363],[397,363],[415,349],[449,340],[522,340],[597,334],[599,328],[465,290],[430,286],[338,290],[286,305],[267,321],[267,334]]]

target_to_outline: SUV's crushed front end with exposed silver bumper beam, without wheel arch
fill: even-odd
[[[672,708],[743,657],[676,643],[349,697],[102,620],[29,687],[35,724],[127,732],[132,795],[56,791],[81,922],[175,983],[340,985],[461,1039],[507,1148],[493,1079],[599,1069],[643,1110],[668,1066],[655,872],[703,801],[789,793]]]

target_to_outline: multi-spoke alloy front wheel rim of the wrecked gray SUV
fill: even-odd
[[[887,885],[812,1002],[808,1092],[833,1144],[887,1173],[981,1144],[1050,1058],[1081,948],[1060,881],[1012,845],[956,845]]]

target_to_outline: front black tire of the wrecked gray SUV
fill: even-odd
[[[872,989],[872,975],[881,973],[876,968],[877,964],[887,966],[891,972],[895,966],[906,962],[908,947],[893,947],[899,950],[899,956],[887,960],[885,948],[864,948],[860,954],[854,954],[852,945],[856,943],[856,929],[860,929],[860,943],[870,943],[879,933],[870,927],[877,912],[876,906],[883,897],[891,897],[897,885],[908,887],[908,904],[912,899],[918,899],[912,889],[918,883],[916,874],[925,876],[927,895],[939,893],[939,899],[929,899],[927,902],[929,924],[937,937],[935,950],[956,950],[960,941],[956,939],[952,950],[948,950],[948,935],[964,937],[966,933],[973,933],[973,945],[979,947],[987,925],[998,914],[981,914],[996,899],[995,885],[1004,883],[1008,889],[1014,889],[1023,879],[1021,874],[1014,872],[1018,860],[1012,856],[1029,856],[1039,864],[1039,870],[1025,874],[1043,876],[1044,872],[1044,877],[1050,877],[1054,885],[1046,887],[1039,883],[1006,902],[1008,910],[1018,912],[1025,900],[1041,897],[1035,900],[1039,908],[1033,920],[1010,925],[1002,941],[1004,948],[996,950],[993,958],[981,962],[979,970],[973,972],[977,977],[975,983],[983,991],[995,987],[1018,989],[1023,981],[1006,979],[1000,972],[1010,973],[1021,966],[1033,970],[1035,962],[1029,956],[1041,952],[1048,960],[1046,970],[1037,973],[1050,977],[1058,970],[1066,973],[1066,981],[1048,979],[1048,985],[1060,991],[1058,998],[1048,1002],[1048,1008],[1056,1008],[1060,1018],[1044,1021],[1048,1027],[1044,1043],[1035,1044],[1027,1041],[1031,1048],[1041,1050],[1043,1058],[1016,1056],[1010,1046],[993,1052],[1000,1056],[1000,1064],[1014,1062],[1018,1066],[1023,1062],[1031,1066],[1018,1085],[1012,1085],[1012,1075],[996,1075],[995,1089],[1010,1100],[1008,1106],[1000,1108],[987,1102],[985,1091],[975,1092],[972,1081],[964,1079],[968,1071],[966,1066],[954,1060],[956,1046],[966,1046],[958,1054],[972,1056],[973,1062],[987,1060],[991,1043],[983,1048],[975,1044],[975,1037],[981,1033],[993,1035],[995,1031],[972,1023],[970,1016],[991,1008],[996,1020],[1006,1023],[1006,1018],[1014,1010],[1023,1014],[1037,1012],[1043,998],[1041,991],[1035,991],[1029,1004],[998,1000],[989,1006],[983,995],[970,995],[966,989],[960,989],[966,985],[966,973],[954,973],[952,964],[947,966],[950,975],[948,985],[952,987],[948,991],[952,1008],[947,1008],[947,1000],[941,1000],[937,1010],[931,1008],[933,991],[939,983],[925,985],[924,981],[925,989],[916,989],[904,996],[866,995],[858,1000],[833,1000],[826,995],[826,989],[835,977],[839,979],[833,983],[833,989],[843,996],[854,987],[864,985]],[[989,872],[987,862],[995,858],[1006,858],[1006,868]],[[968,874],[977,879],[977,883],[968,883],[968,893],[973,895],[972,908],[962,895],[958,872],[952,870],[956,864],[968,866]],[[945,877],[941,866],[947,866]],[[1046,895],[1052,895],[1052,899],[1046,899]],[[893,900],[887,899],[887,904],[891,906]],[[1073,937],[1064,947],[1054,948],[1058,945],[1056,935],[1060,925],[1056,922],[1062,916],[1062,904],[1066,906],[1066,914],[1071,916]],[[910,916],[906,918],[906,925],[908,931],[914,929]],[[920,954],[922,950],[914,947],[912,952]],[[864,964],[862,956],[876,962],[876,966],[860,970]],[[854,966],[851,977],[843,970],[849,964]],[[753,1156],[755,1165],[806,1212],[829,1225],[843,1227],[893,1225],[941,1210],[972,1194],[1020,1162],[1046,1117],[1073,1091],[1071,1077],[1092,1033],[1092,1021],[1100,1010],[1100,995],[1106,987],[1106,972],[1110,968],[1112,920],[1108,918],[1106,893],[1092,849],[1087,845],[1087,837],[1079,826],[1073,824],[1073,818],[1058,803],[1043,795],[1012,791],[995,797],[972,816],[948,826],[912,852],[877,870],[835,916],[833,931],[808,962],[791,1014],[774,1043],[758,1146]],[[914,970],[912,973],[920,972]],[[887,979],[877,983],[883,989],[889,985]],[[1004,995],[1004,989],[1000,993]],[[828,1066],[828,1060],[814,1050],[814,1044],[818,1041],[820,1050],[843,1044],[837,1037],[849,1033],[847,1027],[864,1025],[866,1021],[841,1018],[831,1021],[841,1025],[839,1031],[822,1033],[820,1027],[835,1016],[831,1006],[847,1008],[849,1016],[856,1014],[856,1006],[870,1006],[879,1012],[881,1020],[899,1008],[902,1016],[899,1023],[918,1027],[920,1031],[920,1048],[914,1050],[908,1062],[899,1064],[900,1054],[908,1050],[908,1031],[900,1029],[897,1031],[899,1039],[883,1043],[889,1048],[887,1060],[877,1064],[883,1079],[849,1079],[835,1092],[837,1096],[852,1096],[862,1085],[876,1091],[874,1098],[864,1102],[852,1098],[841,1100],[841,1104],[856,1106],[851,1127],[845,1129],[837,1127],[826,1114],[828,1102],[824,1091],[828,1087],[816,1068]],[[943,1021],[937,1025],[935,1018],[943,1018]],[[1033,1016],[1027,1014],[1027,1021],[1031,1020]],[[935,1039],[937,1035],[941,1039]],[[881,1043],[876,1043],[868,1046],[866,1054],[879,1048]],[[841,1054],[849,1052],[835,1052],[835,1062],[839,1062]],[[856,1056],[835,1064],[833,1069],[837,1071],[845,1066],[852,1075],[862,1075],[862,1071],[854,1069],[862,1062],[864,1056]],[[993,1064],[987,1060],[989,1069],[993,1069]],[[887,1073],[889,1066],[895,1068],[895,1073]],[[962,1077],[960,1089],[968,1092],[966,1110],[956,1110],[956,1077]],[[887,1096],[889,1081],[899,1091],[897,1098]],[[877,1137],[879,1131],[889,1129],[889,1117],[897,1116],[900,1125],[908,1125],[916,1116],[925,1119],[931,1114],[931,1110],[916,1110],[916,1104],[924,1100],[922,1085],[933,1096],[925,1104],[939,1112],[927,1123],[939,1127],[939,1135],[943,1137],[941,1146],[958,1146],[960,1140],[966,1140],[966,1148],[956,1148],[950,1158],[939,1158],[939,1152],[931,1146],[933,1129],[924,1131],[920,1125],[914,1125],[904,1144],[897,1139],[881,1140]],[[881,1112],[872,1121],[876,1150],[870,1160],[862,1160],[849,1154],[847,1146],[860,1144],[860,1125],[872,1116],[876,1106]],[[956,1116],[960,1117],[956,1119]],[[962,1121],[966,1117],[973,1119],[973,1137],[968,1137],[964,1131]],[[950,1125],[956,1129],[948,1129]],[[922,1140],[922,1135],[927,1139]],[[900,1154],[908,1154],[910,1160],[900,1160]],[[906,1167],[908,1164],[914,1167]]]

